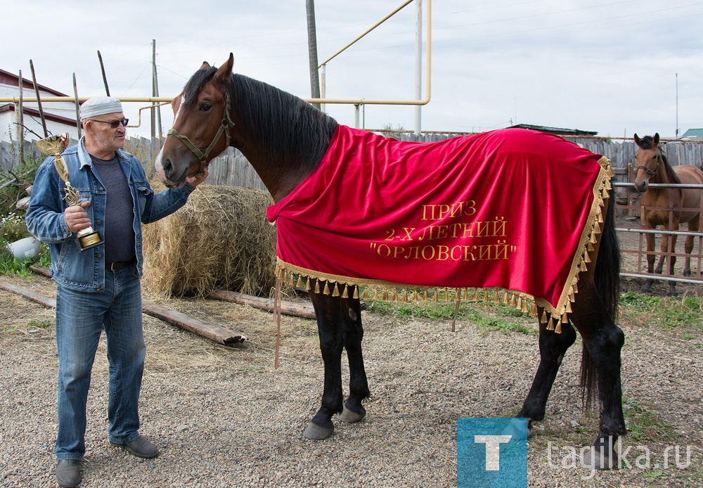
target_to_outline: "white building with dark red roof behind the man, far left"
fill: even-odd
[[[67,96],[60,91],[37,85],[39,98],[49,96]],[[0,70],[0,97],[19,97],[20,77],[11,72]],[[34,83],[22,77],[22,96],[36,96]],[[76,121],[76,105],[73,102],[42,103],[44,120],[49,135],[64,134],[67,132],[72,139],[78,139],[78,123]],[[18,141],[20,139],[19,103],[0,103],[0,142]],[[37,141],[44,137],[41,127],[39,104],[37,102],[22,101],[22,124],[25,126],[25,141]]]

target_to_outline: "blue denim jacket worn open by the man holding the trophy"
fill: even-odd
[[[82,138],[77,146],[63,152],[68,167],[71,186],[80,191],[81,200],[90,200],[86,208],[93,230],[105,236],[105,186],[93,170],[90,155]],[[125,150],[117,150],[117,159],[127,177],[134,200],[134,253],[137,259],[136,273],[142,274],[143,255],[141,224],[172,214],[188,200],[195,189],[186,183],[181,188],[169,188],[154,193],[149,185],[141,163]],[[75,233],[66,225],[63,211],[68,207],[63,200],[65,183],[53,165],[53,156],[46,158],[37,169],[25,214],[27,229],[38,240],[49,244],[51,252],[51,276],[60,285],[73,290],[99,292],[105,288],[104,245],[81,251]]]

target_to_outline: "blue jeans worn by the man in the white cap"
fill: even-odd
[[[85,453],[86,401],[103,328],[110,371],[110,442],[126,444],[139,436],[138,400],[146,345],[141,283],[135,267],[106,269],[102,292],[57,287],[58,459],[80,459]]]

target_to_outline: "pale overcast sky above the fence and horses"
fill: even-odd
[[[402,0],[314,0],[318,59],[332,56]],[[5,2],[0,68],[79,96],[150,96],[152,41],[161,96],[202,61],[309,98],[304,0]],[[423,1],[423,13],[427,0]],[[415,97],[415,12],[406,6],[326,70],[330,98]],[[425,19],[426,21],[426,19]],[[434,0],[432,99],[422,129],[536,124],[600,136],[663,137],[703,127],[703,1]],[[423,32],[424,37],[424,32]],[[10,47],[13,46],[13,47]],[[424,56],[423,56],[424,58]],[[423,59],[423,68],[425,60]],[[678,74],[678,77],[677,77]],[[424,85],[424,76],[423,76]],[[423,97],[426,93],[423,86]],[[138,103],[124,112],[136,123]],[[328,105],[354,125],[354,108]],[[367,105],[363,127],[415,129],[411,107]],[[131,134],[148,135],[142,127]],[[146,117],[146,120],[145,120]],[[170,127],[170,108],[162,112]]]

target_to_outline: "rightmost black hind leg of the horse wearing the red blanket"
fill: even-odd
[[[588,283],[582,283],[587,281]],[[626,432],[622,413],[620,382],[620,352],[625,342],[622,330],[608,316],[605,305],[595,290],[593,281],[579,281],[579,293],[572,304],[572,322],[583,338],[581,383],[590,392],[598,380],[600,398],[600,426],[590,459],[593,467],[607,469],[617,466],[614,445],[619,435]]]

